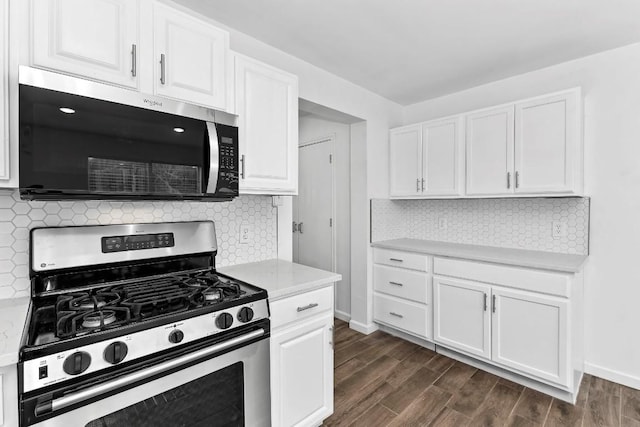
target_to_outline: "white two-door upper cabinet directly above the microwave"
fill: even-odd
[[[227,108],[228,32],[151,0],[31,1],[31,65]]]

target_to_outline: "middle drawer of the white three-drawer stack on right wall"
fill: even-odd
[[[373,266],[373,287],[378,292],[426,304],[430,276],[403,268]]]

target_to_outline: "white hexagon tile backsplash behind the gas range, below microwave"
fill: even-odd
[[[216,265],[277,256],[276,208],[270,196],[240,196],[232,202],[28,202],[18,191],[0,193],[0,299],[29,295],[29,230],[60,225],[213,220]],[[240,225],[253,241],[240,244]]]

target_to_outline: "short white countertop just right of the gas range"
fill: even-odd
[[[231,265],[217,270],[266,289],[269,301],[323,288],[342,279],[337,273],[280,259]]]

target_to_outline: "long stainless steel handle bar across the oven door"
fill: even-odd
[[[159,363],[150,368],[134,372],[131,375],[126,375],[121,378],[115,379],[113,381],[108,381],[100,385],[97,385],[95,387],[87,388],[85,390],[82,390],[76,393],[70,393],[66,396],[63,396],[57,399],[52,399],[46,402],[42,402],[36,406],[35,415],[36,417],[40,417],[42,415],[49,414],[51,412],[59,411],[61,409],[67,408],[77,403],[84,402],[85,400],[89,400],[94,397],[100,396],[102,394],[117,390],[119,388],[126,387],[128,385],[147,379],[149,377],[162,374],[163,372],[166,372],[175,368],[179,368],[182,365],[186,365],[200,358],[211,356],[212,354],[215,354],[222,350],[226,350],[229,347],[233,347],[239,344],[243,344],[247,341],[254,340],[265,334],[266,332],[264,329],[257,329],[255,331],[249,332],[248,334],[240,335],[228,341],[224,341],[219,344],[213,345],[211,347],[203,348],[202,350],[198,350],[193,353],[188,353],[176,359],[168,360],[166,362]]]

